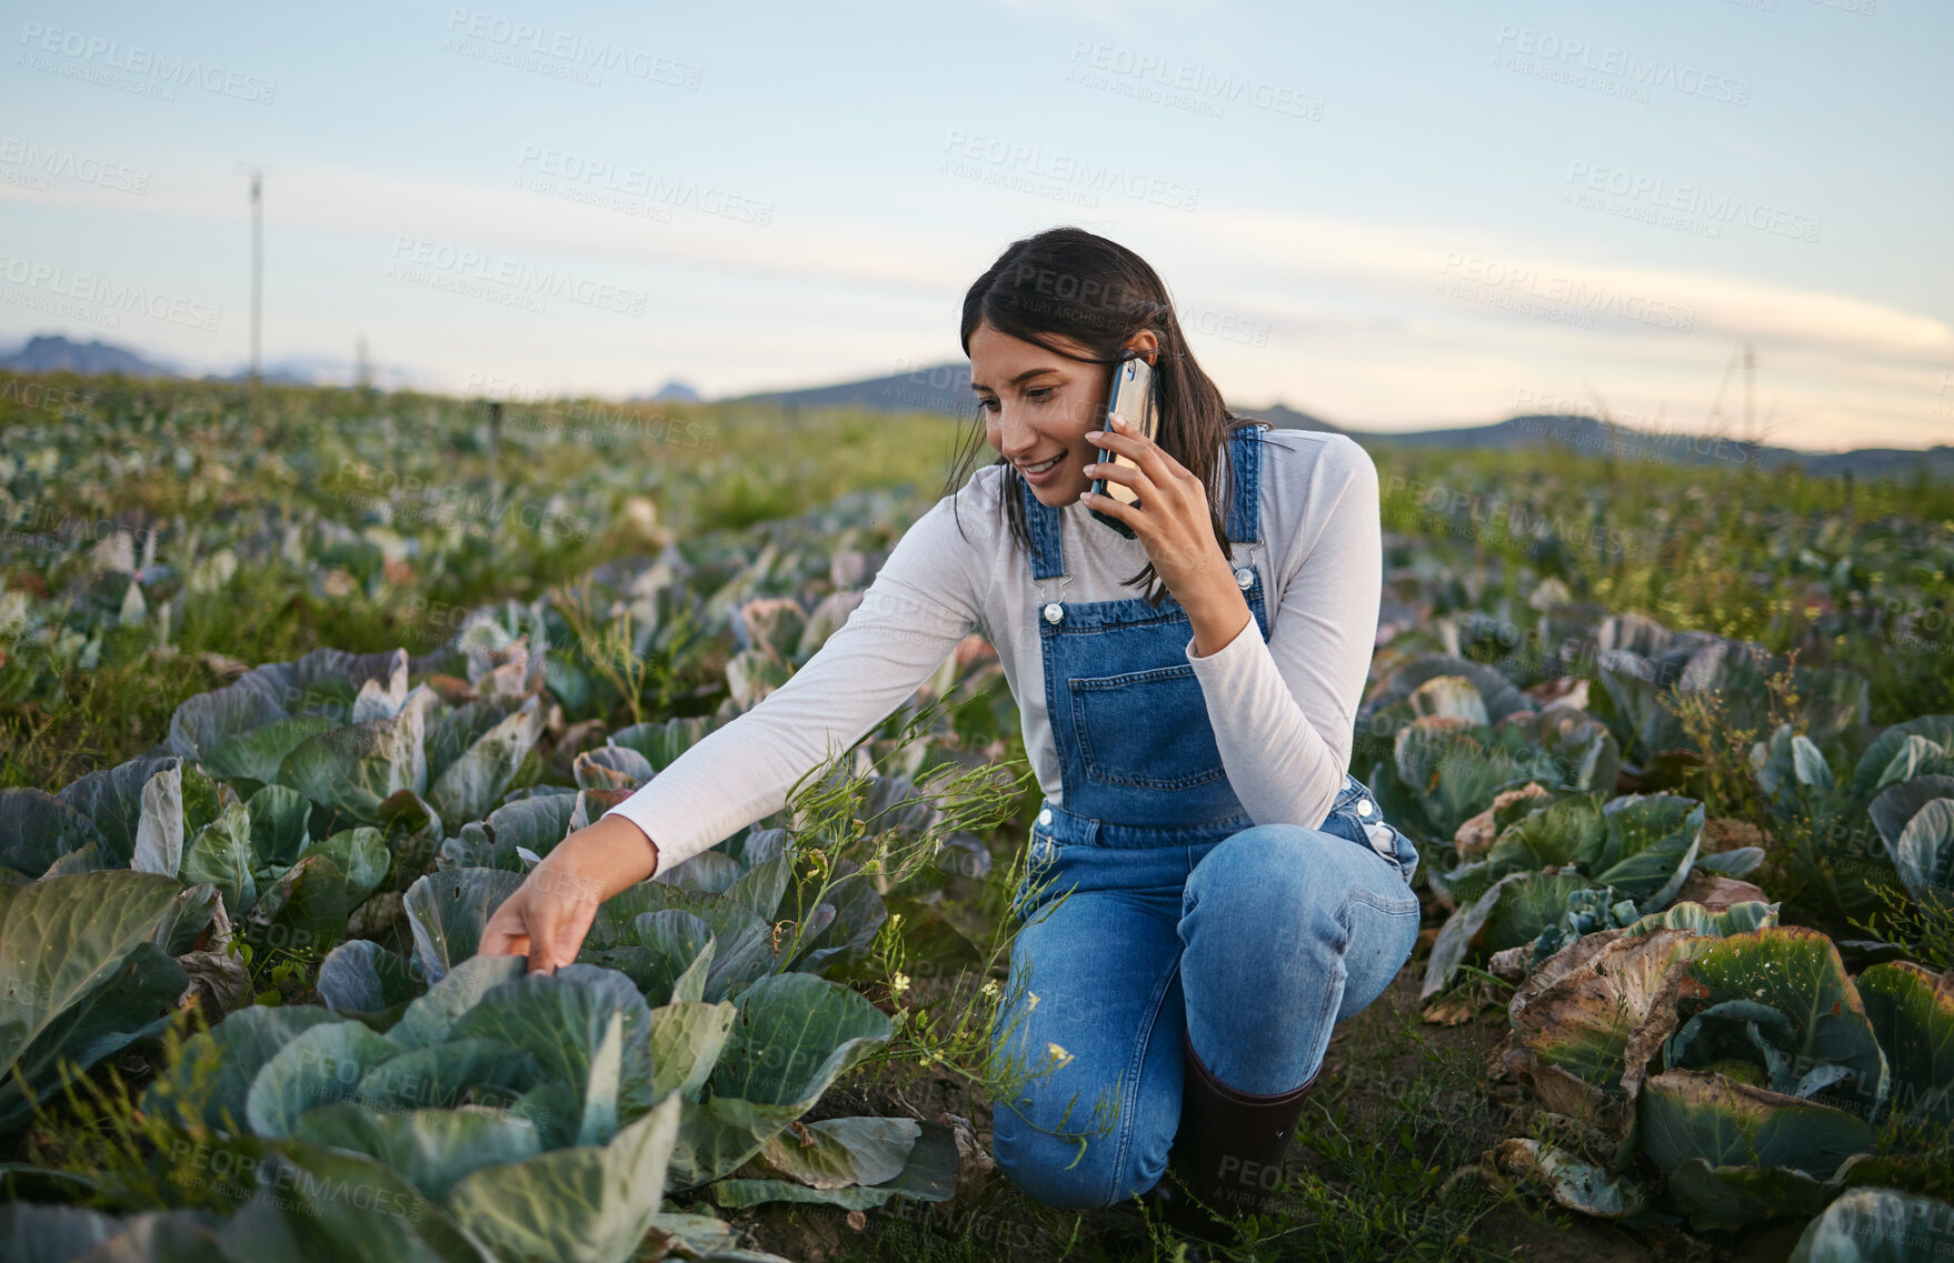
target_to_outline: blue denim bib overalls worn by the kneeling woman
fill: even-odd
[[[1231,431],[1229,455],[1227,537],[1253,558],[1262,428]],[[1337,1021],[1411,957],[1417,849],[1348,775],[1321,828],[1256,826],[1186,660],[1186,609],[1170,593],[1159,607],[1063,601],[1061,509],[1018,490],[1065,804],[1047,798],[1032,826],[993,1050],[1018,1076],[1057,1068],[1006,1083],[993,1138],[1032,1197],[1106,1206],[1167,1169],[1182,1027],[1237,1091],[1315,1074]],[[1266,640],[1262,574],[1237,560],[1235,580]]]

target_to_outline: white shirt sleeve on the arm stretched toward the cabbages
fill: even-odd
[[[979,623],[977,550],[952,496],[903,533],[862,603],[784,685],[604,812],[658,849],[653,876],[787,804],[787,791],[887,718]],[[959,508],[965,523],[973,508]]]

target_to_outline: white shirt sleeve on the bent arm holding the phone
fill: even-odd
[[[1378,469],[1354,439],[1311,465],[1301,517],[1268,640],[1249,619],[1213,654],[1192,638],[1186,654],[1249,818],[1321,828],[1350,767],[1383,593]]]

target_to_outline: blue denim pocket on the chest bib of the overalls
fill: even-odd
[[[1073,738],[1086,775],[1131,789],[1194,789],[1227,775],[1208,724],[1159,722],[1163,714],[1208,714],[1202,681],[1186,662],[1073,677]]]

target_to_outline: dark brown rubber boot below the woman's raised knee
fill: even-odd
[[[1254,1214],[1282,1183],[1282,1154],[1303,1113],[1301,1087],[1276,1095],[1235,1091],[1194,1056],[1182,1033],[1180,1128],[1167,1154],[1167,1179],[1151,1191],[1167,1224],[1180,1236],[1235,1242],[1235,1220]],[[1192,1195],[1192,1197],[1190,1197]]]

